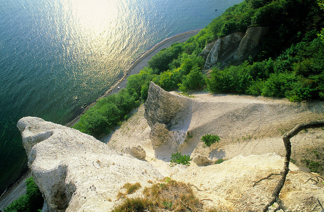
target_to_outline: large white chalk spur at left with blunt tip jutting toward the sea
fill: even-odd
[[[17,127],[51,212],[110,211],[121,201],[116,195],[126,182],[145,186],[162,178],[150,163],[111,150],[78,130],[37,117],[24,117]]]

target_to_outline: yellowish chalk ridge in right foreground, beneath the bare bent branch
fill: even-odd
[[[271,199],[272,191],[280,175],[261,180],[270,173],[282,170],[284,158],[275,153],[263,155],[238,155],[220,164],[205,167],[189,166],[172,176],[172,179],[197,186],[199,199],[204,201],[205,211],[262,211]],[[281,190],[280,198],[288,211],[320,211],[317,198],[324,201],[321,186],[307,182],[315,173],[305,173],[290,163],[286,183]],[[193,190],[196,188],[192,187]],[[278,205],[273,205],[273,211]]]

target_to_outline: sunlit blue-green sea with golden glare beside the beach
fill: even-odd
[[[1,0],[0,194],[27,167],[21,117],[66,124],[143,52],[239,2]]]

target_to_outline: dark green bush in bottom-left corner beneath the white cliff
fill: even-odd
[[[13,201],[4,212],[36,212],[42,208],[44,199],[33,177],[27,179],[26,186],[26,195]]]

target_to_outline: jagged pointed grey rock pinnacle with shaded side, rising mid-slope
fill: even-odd
[[[176,147],[184,141],[191,120],[190,100],[172,95],[151,82],[144,107],[155,149],[166,143]]]

